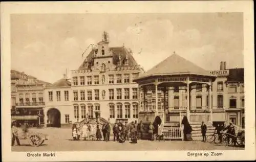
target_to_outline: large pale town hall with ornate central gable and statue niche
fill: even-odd
[[[104,118],[111,123],[138,119],[138,84],[133,80],[143,73],[125,47],[109,47],[103,33],[78,70],[72,71],[74,118]]]

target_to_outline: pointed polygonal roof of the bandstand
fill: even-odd
[[[135,80],[163,75],[200,75],[215,78],[202,67],[174,53]]]

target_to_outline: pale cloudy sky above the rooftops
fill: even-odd
[[[103,31],[145,71],[174,51],[205,70],[244,65],[242,13],[12,14],[11,69],[50,83],[66,69],[70,77]]]

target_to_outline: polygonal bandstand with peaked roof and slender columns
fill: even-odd
[[[139,84],[139,116],[146,114],[162,119],[160,129],[165,138],[182,138],[181,120],[186,115],[194,136],[201,134],[201,122],[212,124],[211,85],[215,76],[196,64],[173,54],[135,79]]]

